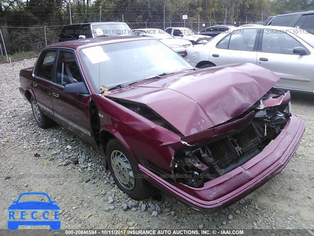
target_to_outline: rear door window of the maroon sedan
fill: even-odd
[[[36,76],[52,81],[52,67],[56,50],[44,51],[38,61]]]

